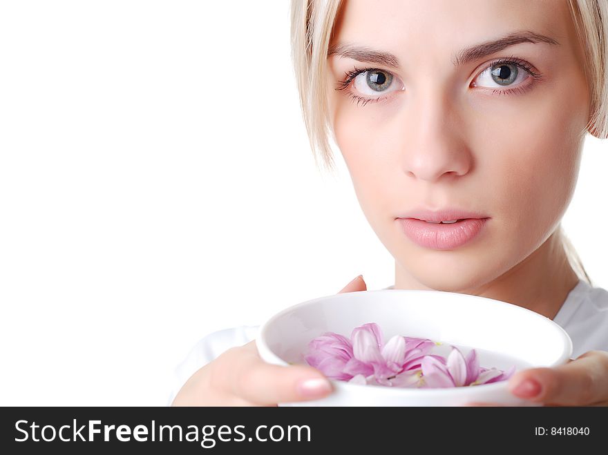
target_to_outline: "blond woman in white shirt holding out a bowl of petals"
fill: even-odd
[[[608,292],[560,229],[585,135],[608,137],[607,41],[604,0],[292,1],[312,147],[331,168],[332,134],[395,258],[395,289],[504,300],[560,323],[576,360],[509,380],[547,405],[608,405]],[[341,292],[365,289],[357,277]],[[331,392],[315,369],[262,362],[254,329],[203,339],[173,405]]]

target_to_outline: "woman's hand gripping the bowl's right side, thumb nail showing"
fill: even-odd
[[[608,352],[589,351],[559,367],[519,371],[509,379],[509,390],[544,406],[608,406]]]

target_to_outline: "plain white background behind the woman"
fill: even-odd
[[[0,405],[165,405],[211,331],[394,262],[321,173],[289,3],[0,2]],[[608,144],[564,217],[608,287]]]

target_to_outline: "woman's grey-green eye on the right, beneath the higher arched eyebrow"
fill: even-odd
[[[528,79],[540,79],[540,74],[536,73],[526,61],[512,57],[493,62],[477,76],[472,86],[524,90],[532,84],[532,82],[526,84]],[[493,90],[493,93],[509,93],[510,91]]]

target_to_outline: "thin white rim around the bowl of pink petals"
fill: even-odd
[[[558,325],[557,322],[551,320],[550,318],[547,318],[547,316],[542,316],[542,314],[540,314],[540,313],[536,313],[535,311],[532,311],[531,309],[520,307],[517,304],[504,302],[503,300],[496,300],[493,298],[482,297],[482,296],[472,296],[471,294],[455,293],[455,292],[448,292],[448,291],[435,291],[433,289],[372,289],[372,290],[354,291],[354,292],[357,292],[357,293],[401,292],[401,293],[408,293],[408,294],[417,294],[417,293],[445,294],[445,293],[448,293],[448,294],[457,294],[459,296],[462,296],[460,298],[463,298],[466,300],[477,300],[478,302],[481,302],[481,301],[487,302],[488,300],[491,300],[492,302],[495,302],[496,304],[502,305],[504,308],[509,308],[508,311],[520,311],[522,314],[526,314],[526,317],[537,318],[539,321],[542,321],[542,323],[551,325],[551,327],[553,327],[553,329],[558,332],[560,338],[562,339],[562,344],[564,346],[564,350],[563,350],[561,356],[557,360],[555,360],[554,362],[551,362],[550,365],[543,365],[543,367],[557,367],[559,365],[564,365],[565,363],[567,363],[568,360],[570,360],[571,355],[572,355],[572,351],[573,351],[572,340],[571,340],[570,336],[568,335],[567,331],[565,331],[560,325]],[[267,320],[265,322],[263,322],[263,324],[260,325],[260,327],[258,328],[258,333],[255,338],[256,347],[258,348],[260,357],[263,358],[263,360],[265,360],[266,362],[272,363],[274,365],[283,365],[283,366],[289,365],[288,362],[286,362],[285,360],[280,358],[278,355],[276,355],[274,353],[274,351],[272,351],[272,349],[270,349],[270,347],[268,346],[268,344],[266,342],[267,331],[268,331],[269,327],[272,325],[272,323],[275,322],[278,318],[281,318],[282,316],[285,316],[285,314],[295,311],[296,309],[298,309],[300,307],[305,307],[307,305],[314,304],[321,300],[349,298],[351,296],[352,296],[352,293],[337,293],[337,294],[330,294],[327,296],[314,298],[311,300],[306,300],[305,302],[299,302],[290,307],[287,307],[287,308],[279,311],[278,313],[275,313],[273,316],[270,316],[269,318],[267,318]],[[444,340],[444,342],[448,342],[448,341]],[[537,368],[537,366],[532,366],[530,368]],[[523,370],[520,370],[520,371],[523,371]],[[476,394],[479,394],[482,392],[483,393],[490,392],[490,391],[493,391],[494,389],[496,389],[496,390],[505,389],[507,387],[507,383],[509,383],[509,380],[503,380],[503,381],[500,381],[497,383],[479,384],[479,385],[475,385],[475,386],[466,386],[466,387],[417,388],[417,387],[386,387],[386,386],[381,386],[381,385],[371,385],[371,387],[370,387],[370,385],[366,385],[365,387],[361,387],[361,385],[359,385],[359,384],[350,384],[350,383],[348,383],[348,381],[334,380],[334,379],[330,379],[330,378],[328,378],[328,380],[330,380],[330,383],[332,383],[332,385],[334,386],[334,389],[341,389],[343,391],[350,391],[352,389],[352,391],[357,391],[357,393],[362,393],[363,390],[367,389],[367,390],[370,390],[370,393],[389,394],[390,396],[395,396],[395,394],[399,394],[401,396],[410,396],[410,395],[421,396],[421,395],[431,395],[431,394],[432,395],[435,395],[435,394],[449,395],[449,394],[455,394],[455,393],[458,395],[464,394],[465,396],[468,396],[468,395],[473,396],[473,395],[476,395]],[[354,389],[353,389],[353,387],[354,387]]]

